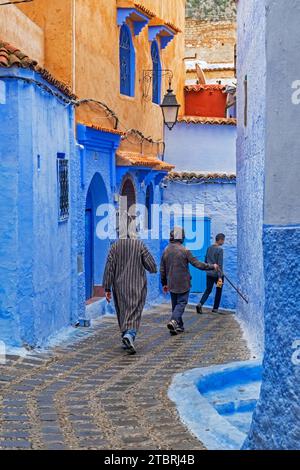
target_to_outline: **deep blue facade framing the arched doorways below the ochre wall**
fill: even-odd
[[[81,153],[81,182],[78,189],[78,256],[84,260],[85,256],[85,224],[84,214],[86,197],[94,178],[97,179],[93,193],[95,198],[95,208],[101,203],[114,204],[118,209],[117,195],[120,194],[122,184],[125,178],[130,177],[136,193],[137,204],[145,205],[147,185],[143,184],[145,177],[149,174],[147,169],[134,169],[123,167],[115,168],[115,152],[120,143],[120,136],[100,132],[95,129],[89,129],[79,125],[77,127],[77,140],[83,147],[79,149]],[[153,202],[160,204],[161,189],[158,182],[163,175],[159,172],[153,172]],[[100,218],[95,215],[94,227]],[[160,235],[160,234],[159,234]],[[102,285],[102,276],[106,257],[110,244],[115,240],[99,240],[94,233],[94,280],[95,285]],[[145,240],[145,243],[151,250],[157,264],[160,262],[161,239]],[[147,305],[158,303],[160,298],[159,276],[149,275]],[[78,274],[78,296],[80,315],[85,315],[85,273]]]

